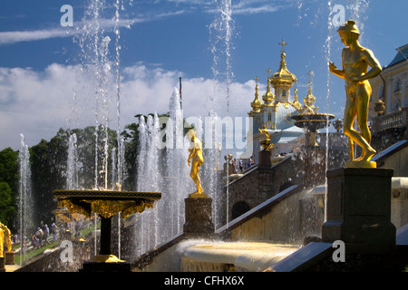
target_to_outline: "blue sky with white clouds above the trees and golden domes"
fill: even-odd
[[[96,1],[96,0],[95,0]],[[93,1],[93,2],[95,2]],[[282,39],[287,68],[296,74],[298,94],[306,95],[308,72],[319,111],[342,118],[344,83],[328,77],[327,59],[341,63],[335,27],[329,29],[333,7],[345,8],[362,31],[362,45],[373,50],[380,63],[390,63],[395,49],[408,43],[405,0],[300,1],[232,0],[230,66],[226,64],[226,29],[219,9],[225,1],[121,0],[120,74],[121,126],[137,113],[168,110],[170,95],[183,80],[185,116],[204,116],[216,109],[227,114],[225,75],[229,76],[231,116],[246,117],[259,77],[260,93],[266,88],[267,69],[278,69]],[[49,140],[59,128],[92,125],[94,88],[83,75],[81,47],[75,39],[83,27],[91,1],[37,0],[0,3],[0,149],[18,149],[20,133],[29,146]],[[109,36],[111,64],[108,94],[115,111],[115,1],[102,1],[101,35]],[[63,5],[73,7],[73,27],[63,27]],[[222,26],[225,27],[225,26]],[[76,35],[76,37],[75,37]],[[220,37],[217,45],[214,41]],[[216,49],[215,52],[212,49]],[[90,55],[88,55],[90,56]],[[217,65],[214,59],[218,60]],[[219,74],[215,75],[214,72]],[[217,95],[217,98],[214,98]],[[328,99],[327,99],[328,97]],[[213,101],[216,99],[216,101]],[[114,113],[110,117],[114,128]]]

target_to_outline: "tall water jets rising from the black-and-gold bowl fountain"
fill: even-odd
[[[87,1],[83,20],[75,25],[75,41],[81,49],[81,72],[91,75],[94,93],[94,189],[115,188],[121,190],[124,164],[124,140],[121,139],[121,10],[124,10],[124,0],[113,3],[114,16],[108,15],[114,22],[111,37],[105,34],[105,8],[110,8],[104,0]],[[129,1],[132,5],[132,1]],[[114,45],[115,53],[111,56],[110,45]],[[113,72],[114,71],[114,72]],[[75,101],[81,97],[74,90]],[[86,96],[85,96],[86,97]],[[86,98],[85,98],[86,99]],[[116,99],[116,100],[114,100]],[[110,150],[112,143],[109,136],[110,121],[114,120],[114,101],[116,101],[116,146]],[[112,114],[112,116],[111,116]],[[110,156],[110,154],[112,154]],[[109,160],[111,159],[111,162]],[[109,176],[111,175],[111,179]],[[78,186],[78,185],[77,185]],[[118,228],[121,228],[121,214],[118,218]],[[96,229],[96,216],[95,216]],[[121,256],[121,237],[118,237],[118,252]],[[95,241],[96,242],[96,241]],[[95,247],[96,248],[96,247]],[[95,252],[96,254],[96,252]]]

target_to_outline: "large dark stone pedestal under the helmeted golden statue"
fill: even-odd
[[[393,169],[327,171],[327,221],[323,242],[395,245],[391,222]]]

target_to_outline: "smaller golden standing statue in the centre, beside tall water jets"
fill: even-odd
[[[189,130],[187,132],[187,136],[189,137],[189,140],[191,140],[189,147],[189,159],[187,160],[188,164],[189,160],[192,160],[189,176],[191,179],[193,179],[197,186],[197,191],[193,194],[201,194],[204,191],[201,188],[201,183],[199,181],[199,167],[202,165],[202,162],[204,162],[202,157],[201,141],[196,138],[196,132],[194,130]]]

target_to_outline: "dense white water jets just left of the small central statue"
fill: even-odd
[[[153,210],[147,209],[135,223],[137,255],[141,255],[170,237],[180,234],[184,223],[184,198],[192,192],[187,165],[187,140],[179,92],[170,98],[169,117],[165,120],[166,147],[160,149],[160,118],[157,113],[139,120],[137,190],[159,191],[162,198]],[[162,120],[163,121],[163,120]]]

